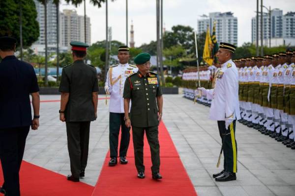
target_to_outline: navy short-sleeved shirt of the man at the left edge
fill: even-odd
[[[34,68],[15,56],[0,62],[0,128],[32,123],[30,93],[39,91]]]

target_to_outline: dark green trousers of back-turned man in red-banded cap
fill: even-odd
[[[85,170],[88,160],[90,122],[66,122],[67,146],[70,156],[71,172],[79,177]]]

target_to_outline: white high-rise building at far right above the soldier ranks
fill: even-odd
[[[261,45],[261,16],[258,18],[258,39]],[[256,45],[256,17],[252,18],[252,43]],[[263,39],[264,46],[295,46],[295,12],[283,15],[283,10],[273,9],[263,14]]]

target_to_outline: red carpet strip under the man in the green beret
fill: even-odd
[[[151,160],[146,138],[144,148],[146,178],[137,178],[131,140],[127,165],[118,164],[109,167],[109,153],[107,154],[92,196],[197,196],[163,122],[159,125],[159,141],[162,180],[151,179]]]

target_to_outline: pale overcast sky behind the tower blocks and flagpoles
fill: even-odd
[[[233,12],[238,23],[238,46],[251,42],[251,18],[255,16],[257,0],[163,0],[163,23],[167,30],[174,25],[189,25],[197,29],[200,15],[209,12]],[[261,0],[259,0],[260,2]],[[91,42],[106,38],[106,7],[94,7],[86,0],[87,15],[91,23]],[[112,26],[112,39],[126,42],[126,0],[109,0],[109,26]],[[295,0],[264,0],[266,7],[279,8],[283,14],[295,12]],[[79,15],[84,15],[84,4],[75,8],[62,2],[63,9],[76,9]],[[264,11],[266,9],[264,8]],[[128,23],[130,32],[131,20],[134,24],[135,46],[156,40],[156,0],[128,0]],[[128,41],[130,33],[128,32]]]

